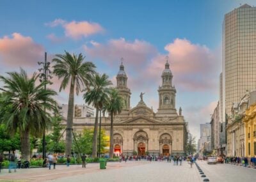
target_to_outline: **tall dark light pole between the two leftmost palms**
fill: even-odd
[[[49,79],[52,79],[51,76],[51,70],[50,68],[50,62],[47,62],[47,52],[44,54],[44,62],[38,62],[38,65],[43,64],[42,68],[39,68],[38,71],[40,72],[39,75],[39,81],[40,82],[49,82]],[[52,82],[49,82],[49,84],[52,84]],[[46,84],[44,86],[44,89],[46,90]],[[45,158],[45,128],[44,128],[44,135],[43,135],[43,159]]]

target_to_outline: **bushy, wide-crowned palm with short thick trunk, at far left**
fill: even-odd
[[[8,73],[9,77],[0,76],[3,82],[1,103],[1,123],[6,125],[10,133],[20,133],[22,158],[30,159],[29,134],[40,137],[45,128],[51,124],[50,110],[56,110],[56,101],[52,98],[57,93],[51,89],[44,89],[48,82],[36,86],[38,74],[33,73],[29,78],[20,69],[20,73]],[[46,110],[46,111],[45,111]]]

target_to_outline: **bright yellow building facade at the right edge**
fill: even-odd
[[[243,119],[245,127],[245,154],[248,157],[256,156],[256,102],[246,109]]]

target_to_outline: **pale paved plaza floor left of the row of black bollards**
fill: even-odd
[[[175,166],[163,162],[109,162],[107,169],[99,169],[99,163],[92,163],[83,169],[81,165],[57,165],[56,169],[17,169],[8,173],[7,169],[0,174],[0,181],[200,181],[196,166],[190,168],[187,162]],[[202,181],[202,179],[201,179]]]

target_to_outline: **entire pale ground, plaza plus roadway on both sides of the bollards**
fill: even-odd
[[[255,181],[256,169],[248,169],[230,164],[208,165],[206,162],[198,162],[198,165],[209,181]],[[57,165],[56,169],[17,169],[17,172],[8,173],[3,169],[0,173],[0,181],[157,181],[157,182],[198,182],[203,181],[196,168],[191,168],[187,162],[180,166],[172,163],[128,161],[109,162],[107,169],[99,169],[99,163],[90,163],[83,169],[81,165]]]

